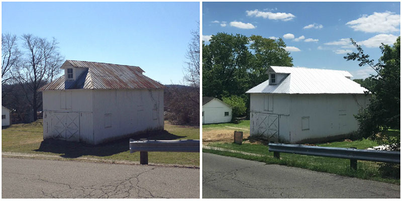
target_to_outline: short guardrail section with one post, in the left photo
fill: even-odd
[[[130,139],[130,153],[140,152],[140,164],[148,164],[148,152],[199,152],[199,140],[140,140]]]

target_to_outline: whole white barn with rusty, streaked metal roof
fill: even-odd
[[[43,139],[100,144],[163,130],[163,89],[138,66],[66,60],[43,93]]]

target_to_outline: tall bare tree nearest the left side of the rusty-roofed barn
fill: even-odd
[[[57,41],[24,34],[21,62],[12,73],[21,85],[25,97],[32,107],[33,120],[36,121],[37,110],[42,105],[38,89],[60,72],[59,66],[64,58],[60,55]]]

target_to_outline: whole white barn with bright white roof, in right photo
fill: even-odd
[[[302,144],[349,137],[370,94],[347,71],[270,66],[251,88],[250,136]]]

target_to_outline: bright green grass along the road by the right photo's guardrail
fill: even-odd
[[[219,128],[219,125],[215,125],[216,128]],[[204,128],[203,128],[204,132]],[[232,134],[233,136],[233,134]],[[233,141],[233,137],[232,137]],[[362,179],[370,179],[377,180],[387,183],[400,184],[399,178],[390,178],[381,176],[378,171],[379,162],[372,161],[358,161],[357,170],[350,169],[350,160],[349,159],[341,159],[341,158],[329,158],[329,157],[319,157],[319,156],[307,156],[307,155],[299,155],[299,154],[287,154],[280,153],[281,159],[273,158],[273,152],[268,152],[268,146],[264,144],[254,144],[250,143],[248,140],[244,140],[244,144],[238,145],[235,143],[222,143],[222,142],[210,142],[208,146],[219,147],[224,149],[243,151],[247,153],[256,153],[263,156],[251,156],[244,155],[241,153],[232,153],[228,151],[219,151],[219,150],[210,150],[203,149],[203,152],[214,153],[224,156],[231,156],[237,158],[243,158],[247,160],[255,160],[260,162],[265,162],[267,164],[280,164],[287,165],[292,167],[300,167],[305,169],[310,169],[314,171],[320,172],[328,172],[333,174],[339,174],[350,177],[357,177]],[[339,141],[339,142],[329,142],[329,143],[320,143],[316,144],[317,146],[325,146],[325,147],[357,147],[358,149],[366,149],[368,147],[377,146],[377,144],[370,140],[355,140],[355,141]]]

